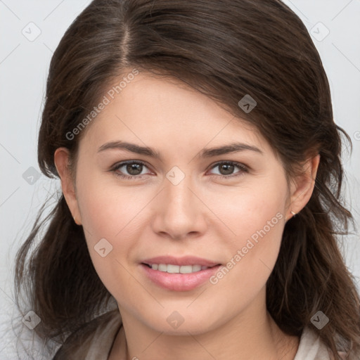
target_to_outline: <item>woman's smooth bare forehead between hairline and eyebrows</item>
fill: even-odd
[[[114,89],[115,81],[109,84]],[[203,148],[241,141],[264,152],[271,150],[257,128],[234,117],[212,99],[172,77],[139,72],[113,98],[108,96],[85,142],[101,146],[108,141],[131,141],[151,148]]]

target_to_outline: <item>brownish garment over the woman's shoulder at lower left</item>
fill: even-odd
[[[107,359],[121,324],[118,309],[96,317],[72,333],[52,360]]]

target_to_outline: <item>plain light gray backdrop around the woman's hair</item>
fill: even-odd
[[[352,157],[345,152],[343,158],[347,176],[345,200],[359,224],[360,0],[284,2],[314,35],[314,44],[330,81],[335,122],[352,137]],[[4,360],[17,359],[15,347],[20,347],[19,341],[31,337],[31,330],[21,321],[15,323],[17,331],[11,330],[11,319],[17,315],[13,307],[15,252],[29,233],[41,204],[60,185],[58,180],[50,181],[44,175],[34,184],[28,183],[31,178],[26,181],[23,177],[26,171],[31,171],[30,167],[39,172],[37,132],[49,63],[65,30],[89,3],[0,0],[0,358]],[[322,39],[326,28],[330,33]],[[32,39],[39,31],[41,34]],[[345,240],[342,252],[349,270],[359,281],[359,233]],[[30,358],[23,355],[21,359]],[[42,359],[40,354],[36,359]]]

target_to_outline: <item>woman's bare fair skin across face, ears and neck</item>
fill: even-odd
[[[319,155],[288,186],[281,162],[255,128],[184,83],[146,72],[85,131],[75,181],[68,150],[58,148],[54,158],[72,216],[84,227],[98,276],[122,315],[109,359],[294,359],[299,339],[285,335],[266,311],[266,281],[290,211],[300,212],[311,197]],[[120,140],[154,148],[162,158],[120,149],[98,153],[104,143]],[[233,141],[263,154],[195,157],[203,148]],[[109,171],[125,160],[146,162],[137,173],[117,169],[141,173],[134,175],[140,180]],[[240,162],[248,172],[235,166],[226,173],[220,161]],[[177,185],[166,177],[174,166],[185,175]],[[229,177],[234,174],[240,175]],[[158,255],[195,255],[226,265],[277,213],[282,219],[215,285],[207,281],[175,292],[141,271],[141,260]],[[105,257],[94,250],[101,238],[113,245]],[[176,329],[167,322],[173,311],[184,319]]]

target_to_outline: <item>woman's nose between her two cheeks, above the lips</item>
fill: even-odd
[[[194,189],[191,176],[186,175],[179,184],[165,179],[165,188],[156,198],[153,231],[174,240],[199,237],[206,231],[210,210]]]

